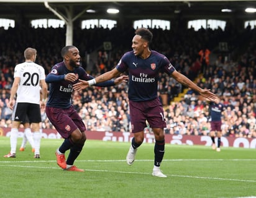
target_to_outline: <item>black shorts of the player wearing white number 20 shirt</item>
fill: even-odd
[[[16,103],[12,112],[12,121],[40,123],[42,121],[40,105],[34,103]]]

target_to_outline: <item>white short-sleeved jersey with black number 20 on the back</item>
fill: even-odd
[[[14,78],[21,81],[17,90],[17,103],[40,103],[40,80],[45,79],[45,70],[35,62],[22,62],[14,69]]]

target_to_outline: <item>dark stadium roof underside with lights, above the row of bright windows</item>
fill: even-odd
[[[79,14],[80,19],[112,18],[119,20],[138,19],[175,19],[183,17],[206,17],[226,19],[228,17],[242,17],[255,19],[255,14],[246,14],[246,7],[256,8],[256,1],[168,1],[168,0],[0,0],[0,17],[8,19],[42,19],[58,18],[52,11],[45,7],[45,2],[55,11],[66,14],[73,12]],[[107,8],[119,9],[119,14],[109,15]],[[87,9],[93,9],[95,13],[87,13]],[[232,12],[221,12],[221,9],[231,9]]]

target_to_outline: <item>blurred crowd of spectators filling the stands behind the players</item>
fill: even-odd
[[[80,49],[82,66],[94,76],[112,69],[122,54],[131,49],[134,31],[130,27],[75,30],[73,44]],[[227,24],[225,30],[194,31],[173,24],[171,30],[152,28],[152,32],[152,49],[165,54],[176,70],[200,87],[219,95],[226,106],[222,135],[256,138],[256,28],[237,30]],[[0,36],[0,127],[10,127],[12,111],[7,104],[14,67],[24,61],[22,52],[28,46],[36,48],[37,63],[48,74],[55,63],[62,61],[60,51],[65,46],[65,29],[16,27],[0,29]],[[104,41],[111,42],[111,51],[104,50]],[[227,48],[220,48],[219,43],[225,43]],[[210,54],[208,58],[206,50]],[[93,51],[98,55],[91,60],[91,70],[88,70],[86,55]],[[128,85],[121,84],[73,92],[72,103],[88,131],[130,131],[127,90]],[[208,135],[209,104],[198,93],[187,90],[164,73],[159,76],[158,91],[160,100],[167,100],[164,104],[166,134]],[[185,94],[180,97],[180,93]],[[175,97],[180,100],[174,100]],[[42,128],[53,129],[45,110],[41,113]],[[151,132],[150,127],[145,128],[145,132]]]

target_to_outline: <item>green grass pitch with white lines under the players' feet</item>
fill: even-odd
[[[255,197],[256,150],[201,145],[165,145],[161,169],[167,178],[152,176],[153,146],[142,144],[134,164],[125,158],[128,143],[87,140],[75,161],[85,173],[63,171],[55,150],[62,139],[42,139],[40,159],[28,144],[16,158],[8,137],[0,137],[0,197]],[[66,153],[67,154],[67,153]]]

